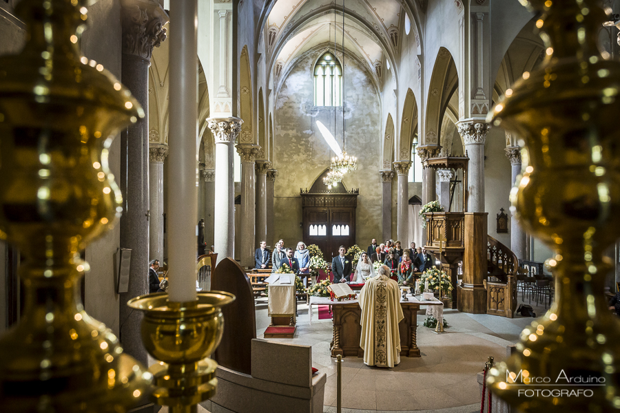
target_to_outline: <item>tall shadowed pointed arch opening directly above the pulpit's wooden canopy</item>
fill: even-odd
[[[455,74],[451,81],[448,74]],[[451,83],[448,85],[448,83]],[[428,100],[426,103],[426,133],[422,136],[423,145],[438,145],[442,119],[448,100],[458,87],[458,74],[452,54],[445,47],[440,47],[431,75],[431,83],[428,85]],[[463,114],[462,102],[459,96],[459,116]]]

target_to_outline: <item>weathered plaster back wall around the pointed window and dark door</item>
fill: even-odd
[[[282,237],[286,245],[302,240],[302,206],[300,188],[310,188],[314,180],[329,167],[333,152],[322,138],[316,121],[334,130],[342,145],[342,109],[313,106],[313,63],[317,51],[298,62],[289,73],[276,102],[275,152],[278,179],[275,182],[274,237]],[[356,240],[365,245],[381,233],[380,216],[382,181],[378,173],[380,142],[379,98],[367,76],[355,61],[344,65],[345,103],[347,112],[347,151],[358,158],[358,170],[347,174],[344,186],[360,189],[356,210]],[[340,109],[340,110],[338,110]]]

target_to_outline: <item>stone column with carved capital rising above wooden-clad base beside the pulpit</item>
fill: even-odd
[[[484,120],[465,120],[459,122],[458,127],[469,157],[467,211],[484,212],[484,141],[490,125]]]

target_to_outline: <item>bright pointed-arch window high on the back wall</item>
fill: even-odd
[[[314,66],[314,105],[342,106],[342,67],[331,52]]]

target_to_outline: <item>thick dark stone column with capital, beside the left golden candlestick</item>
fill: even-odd
[[[142,315],[126,303],[149,292],[145,275],[149,262],[149,65],[153,47],[166,38],[162,26],[167,21],[158,1],[121,1],[121,79],[142,106],[145,117],[121,133],[121,248],[132,250],[132,260],[127,293],[121,294],[119,338],[125,351],[145,366],[147,352],[140,337]]]

